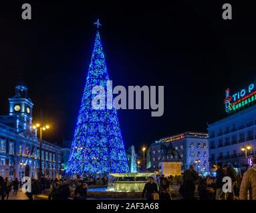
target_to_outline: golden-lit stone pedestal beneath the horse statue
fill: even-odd
[[[182,162],[160,162],[161,174],[164,176],[181,175]]]

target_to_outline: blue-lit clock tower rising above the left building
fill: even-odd
[[[32,130],[32,108],[27,85],[20,81],[15,87],[15,96],[9,99],[9,116],[17,116],[17,131]]]

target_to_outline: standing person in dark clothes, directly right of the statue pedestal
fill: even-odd
[[[195,182],[199,179],[199,174],[195,171],[193,165],[189,166],[183,174],[183,190],[184,190],[184,200],[194,200],[195,199]]]

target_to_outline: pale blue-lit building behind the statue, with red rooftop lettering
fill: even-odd
[[[209,172],[208,134],[201,132],[184,132],[162,138],[151,144],[147,151],[147,169],[157,172],[161,162],[182,162],[182,170],[190,164],[201,174]]]

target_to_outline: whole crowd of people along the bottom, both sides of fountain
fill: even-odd
[[[226,184],[225,178],[231,180],[229,191],[223,192],[223,185]],[[224,178],[224,179],[223,179]],[[223,181],[224,180],[224,181]],[[2,200],[8,200],[10,192],[17,196],[19,187],[22,186],[21,180],[5,179],[0,176],[0,194]],[[88,186],[103,186],[108,184],[107,176],[88,176],[81,179],[77,177],[71,179],[49,179],[45,176],[39,180],[31,180],[31,192],[26,192],[29,200],[33,200],[35,194],[47,194],[49,200],[67,200],[73,198],[84,200],[87,198]],[[201,176],[194,166],[182,174],[182,176],[164,175],[154,180],[150,177],[144,186],[142,198],[148,200],[171,200],[171,187],[179,186],[179,194],[184,200],[256,200],[256,156],[253,158],[251,166],[242,176],[237,174],[232,166],[217,164],[216,176]],[[249,193],[248,193],[249,192]]]

